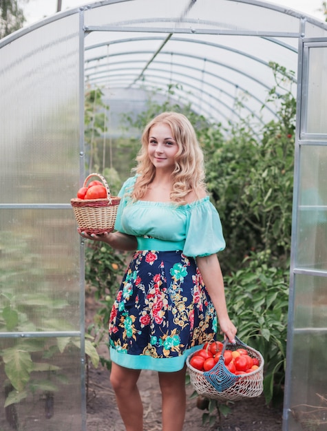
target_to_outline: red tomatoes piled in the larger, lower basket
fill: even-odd
[[[201,350],[193,354],[189,364],[200,371],[209,371],[217,364],[222,354],[223,344],[220,341],[204,344]],[[249,356],[245,348],[224,351],[224,364],[235,375],[247,374],[257,370],[260,362],[257,358]]]

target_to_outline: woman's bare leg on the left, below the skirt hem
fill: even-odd
[[[112,362],[110,383],[126,431],[143,431],[143,403],[136,386],[139,376],[140,370],[131,370]]]

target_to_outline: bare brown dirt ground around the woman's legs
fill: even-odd
[[[96,302],[92,296],[86,301],[86,326],[93,319],[96,312]],[[107,355],[106,349],[101,355]],[[158,390],[158,377],[156,372],[141,372],[138,382],[144,404],[144,431],[161,430],[160,420],[160,391]],[[281,431],[282,406],[271,408],[266,406],[264,397],[235,401],[230,404],[231,412],[218,419],[217,410],[213,425],[202,425],[202,416],[208,410],[197,407],[197,398],[192,398],[193,388],[187,385],[187,412],[184,422],[184,431]],[[88,372],[88,399],[87,399],[87,431],[125,431],[123,421],[116,408],[114,391],[109,382],[109,371],[99,365],[97,369],[90,366]]]

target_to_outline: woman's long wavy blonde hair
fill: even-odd
[[[142,199],[154,180],[156,168],[148,156],[149,134],[151,127],[163,123],[171,128],[174,140],[178,145],[178,152],[173,170],[173,189],[170,193],[171,201],[177,204],[186,204],[186,196],[194,191],[199,198],[200,193],[206,189],[204,182],[204,157],[196,132],[189,119],[177,112],[162,112],[151,120],[143,131],[141,138],[142,147],[136,157],[138,165],[134,169],[138,175],[134,191],[131,193],[133,200]]]

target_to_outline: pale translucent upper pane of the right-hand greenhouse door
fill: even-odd
[[[310,47],[306,133],[327,134],[327,47]]]

